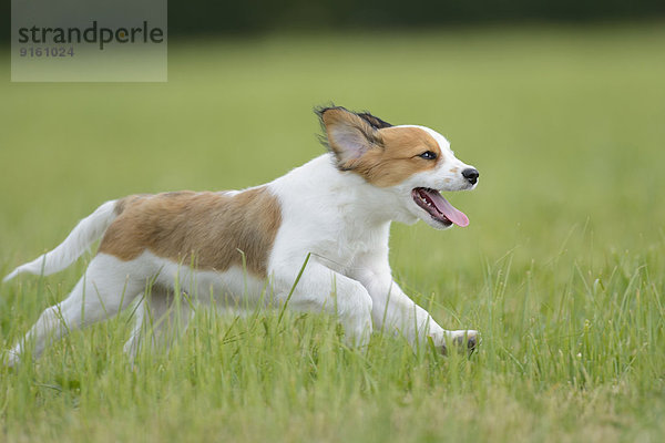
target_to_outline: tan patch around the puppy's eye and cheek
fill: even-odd
[[[443,159],[437,141],[419,127],[386,127],[378,133],[382,146],[368,150],[352,167],[376,186],[395,186],[413,174],[433,169]],[[437,159],[421,158],[427,151],[437,154]]]

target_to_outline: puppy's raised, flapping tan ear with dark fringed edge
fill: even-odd
[[[382,148],[379,128],[360,115],[341,106],[318,109],[316,113],[326,132],[324,144],[335,154],[340,169],[352,169],[366,152]]]

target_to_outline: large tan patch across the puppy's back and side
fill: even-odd
[[[266,277],[267,259],[282,224],[277,198],[266,187],[227,196],[165,193],[117,200],[100,253],[132,260],[144,250],[198,269],[242,266]]]

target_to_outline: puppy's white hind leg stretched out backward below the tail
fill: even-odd
[[[132,261],[104,254],[94,257],[68,298],[42,312],[25,337],[9,351],[6,363],[18,363],[30,342],[33,342],[33,356],[39,357],[51,341],[117,313],[144,290],[145,276],[139,276],[140,271]]]

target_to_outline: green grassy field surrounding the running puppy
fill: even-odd
[[[470,359],[334,319],[201,310],[132,368],[124,313],[0,368],[8,442],[661,442],[665,27],[172,42],[166,84],[12,84],[0,69],[0,271],[101,202],[256,185],[318,155],[313,105],[439,130],[481,172],[471,225],[393,226],[407,292]],[[89,259],[90,257],[88,257]],[[8,349],[84,259],[0,286]]]

